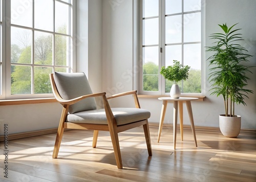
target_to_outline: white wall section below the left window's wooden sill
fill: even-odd
[[[0,136],[8,124],[8,133],[23,133],[58,127],[61,113],[59,103],[0,106]]]

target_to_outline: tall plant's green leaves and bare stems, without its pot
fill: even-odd
[[[238,24],[238,23],[236,23]],[[214,46],[206,47],[206,51],[213,52],[210,56],[209,82],[212,82],[212,93],[217,97],[222,95],[225,105],[225,116],[234,117],[234,103],[246,105],[244,98],[248,98],[248,93],[252,90],[246,89],[247,73],[252,73],[249,68],[252,66],[243,65],[242,62],[248,62],[251,55],[246,54],[245,47],[239,44],[243,40],[240,33],[241,29],[234,29],[236,25],[227,27],[226,23],[219,26],[224,33],[211,34],[210,39],[216,40]]]

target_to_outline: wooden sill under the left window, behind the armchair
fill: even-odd
[[[51,97],[51,98],[0,100],[0,106],[28,105],[28,104],[32,104],[32,103],[50,103],[50,102],[57,102],[57,100],[53,97]]]

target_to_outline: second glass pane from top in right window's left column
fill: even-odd
[[[143,20],[143,45],[158,44],[158,18]]]

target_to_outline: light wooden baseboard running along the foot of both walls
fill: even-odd
[[[150,127],[159,127],[159,123],[155,122],[149,122],[148,123]],[[178,124],[177,127],[179,128],[180,125]],[[164,123],[163,128],[173,128],[172,123]],[[28,138],[28,137],[36,137],[40,135],[47,135],[47,134],[54,134],[57,133],[58,128],[51,128],[51,129],[42,129],[39,131],[33,131],[33,132],[25,132],[25,133],[18,133],[18,134],[11,134],[8,135],[8,141],[10,140],[16,140],[16,139],[22,139],[22,138]],[[190,125],[183,125],[183,129],[191,129]],[[196,131],[206,131],[206,132],[220,132],[219,127],[209,127],[209,126],[195,126]],[[70,130],[70,129],[65,129]],[[241,129],[242,131],[251,131],[256,132],[256,129]],[[4,136],[0,136],[0,142],[4,141]]]

